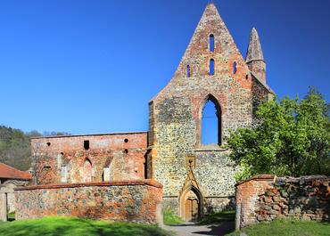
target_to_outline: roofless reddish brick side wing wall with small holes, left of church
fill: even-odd
[[[34,183],[144,179],[146,142],[146,132],[33,138]]]

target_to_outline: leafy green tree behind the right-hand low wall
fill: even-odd
[[[329,104],[315,89],[301,100],[285,97],[261,103],[260,125],[239,128],[227,141],[242,167],[238,178],[258,174],[330,175]]]

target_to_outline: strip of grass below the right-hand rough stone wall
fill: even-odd
[[[255,224],[240,232],[248,236],[329,236],[330,223],[297,220],[276,220],[271,223]],[[232,232],[227,236],[239,236],[240,232]]]

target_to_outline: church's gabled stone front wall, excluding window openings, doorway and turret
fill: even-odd
[[[214,52],[209,48],[211,34]],[[210,59],[214,60],[214,75],[209,73]],[[191,156],[195,157],[194,175],[199,191],[204,198],[212,198],[208,202],[213,208],[222,208],[223,204],[217,202],[229,202],[235,195],[236,167],[228,159],[228,151],[218,145],[206,149],[202,145],[202,109],[210,98],[219,103],[219,144],[226,143],[231,130],[252,126],[253,96],[260,95],[252,92],[253,79],[219,12],[214,4],[209,4],[174,77],[149,102],[153,176],[163,184],[164,200],[175,206],[173,210],[178,211],[173,201],[178,201],[185,185],[189,172],[186,158]]]

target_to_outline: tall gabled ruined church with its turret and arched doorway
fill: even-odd
[[[253,28],[246,60],[214,4],[208,4],[174,76],[149,102],[146,177],[163,184],[163,208],[186,220],[229,207],[234,163],[224,147],[237,127],[252,126],[253,108],[274,94]],[[212,102],[218,142],[202,143],[202,110]]]

